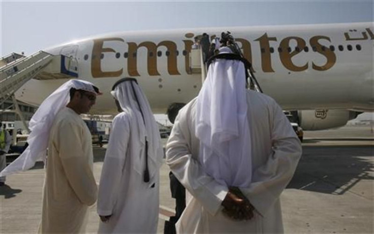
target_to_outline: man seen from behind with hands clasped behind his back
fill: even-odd
[[[283,232],[279,195],[301,144],[271,97],[245,90],[240,61],[212,62],[199,96],[176,117],[166,155],[190,193],[177,232]]]

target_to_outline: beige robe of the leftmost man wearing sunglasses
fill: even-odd
[[[91,141],[81,117],[61,109],[51,127],[39,232],[85,231],[88,206],[97,198]]]

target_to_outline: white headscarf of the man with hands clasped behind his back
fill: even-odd
[[[228,53],[227,47],[220,53]],[[215,59],[196,104],[199,160],[217,182],[245,187],[252,177],[245,68],[238,60]]]

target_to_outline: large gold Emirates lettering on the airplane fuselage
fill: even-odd
[[[201,35],[198,35],[198,37]],[[187,74],[192,74],[190,70],[190,53],[191,48],[194,42],[191,38],[194,37],[194,34],[188,33],[185,34],[185,39],[182,40],[184,44],[184,66],[185,72]],[[214,38],[214,36],[211,36]],[[297,50],[294,49],[293,51],[289,51],[290,42],[296,41],[297,43]],[[335,53],[330,50],[328,46],[323,46],[320,41],[325,40],[331,43],[331,39],[326,36],[314,36],[311,37],[309,40],[309,44],[311,48],[315,48],[314,51],[326,57],[327,62],[325,64],[316,64],[314,61],[312,62],[312,68],[317,71],[326,71],[332,68],[332,66],[336,63],[336,55]],[[93,40],[93,47],[92,47],[92,56],[91,56],[91,74],[93,78],[103,78],[103,77],[119,77],[123,74],[123,68],[118,71],[109,71],[103,72],[102,65],[101,65],[101,55],[104,52],[116,53],[119,51],[115,51],[113,48],[103,48],[103,44],[105,41],[119,41],[125,43],[122,38],[103,38],[103,39],[96,39]],[[251,43],[242,38],[236,39],[239,46],[243,51],[243,56],[252,63],[253,55],[252,55],[252,46]],[[261,69],[264,73],[273,73],[275,72],[272,68],[272,57],[270,52],[270,42],[276,42],[277,39],[275,37],[269,37],[266,33],[261,36],[260,38],[254,40],[259,43],[261,49]],[[138,72],[138,62],[137,62],[137,52],[138,49],[144,47],[147,49],[147,72],[149,76],[160,76],[157,69],[158,63],[158,48],[165,47],[167,49],[167,68],[169,75],[180,75],[177,66],[177,45],[173,41],[162,41],[159,44],[155,44],[153,42],[142,42],[139,45],[135,42],[126,42],[128,45],[128,58],[127,58],[127,69],[128,74],[130,76],[140,76]],[[126,44],[123,44],[125,46]],[[288,69],[289,71],[293,72],[302,72],[308,69],[308,62],[306,62],[302,66],[297,66],[292,62],[292,58],[300,53],[306,53],[303,51],[303,48],[306,46],[304,39],[300,37],[287,37],[284,38],[281,43],[279,43],[279,47],[282,49],[282,52],[279,52],[279,59],[281,60],[283,66]],[[273,47],[274,48],[274,47]]]

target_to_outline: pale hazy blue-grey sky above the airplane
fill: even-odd
[[[374,21],[372,0],[0,0],[0,55],[30,55],[50,46],[114,31],[370,21]]]

